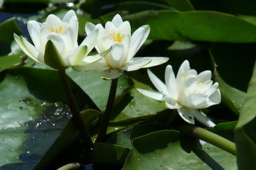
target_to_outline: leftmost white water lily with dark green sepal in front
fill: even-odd
[[[102,57],[87,57],[97,43],[98,32],[97,29],[93,30],[78,46],[78,18],[75,11],[70,10],[65,13],[62,21],[53,14],[46,18],[45,23],[28,21],[28,33],[35,46],[16,34],[14,39],[28,57],[54,69],[62,69],[82,60],[95,62]]]

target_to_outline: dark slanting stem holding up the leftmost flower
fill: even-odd
[[[75,101],[75,97],[73,96],[73,92],[71,91],[70,84],[68,84],[68,79],[67,79],[67,75],[65,74],[65,69],[58,69],[58,73],[60,75],[60,80],[63,85],[65,97],[67,98],[67,101],[68,101],[68,106],[73,115],[72,118],[75,121],[75,125],[77,125],[82,141],[85,142],[87,149],[90,150],[93,147],[92,139],[85,126],[85,123],[82,121],[80,110]]]

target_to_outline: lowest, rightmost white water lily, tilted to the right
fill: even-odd
[[[137,91],[158,101],[164,101],[167,108],[177,109],[181,118],[188,123],[193,124],[195,117],[208,127],[215,126],[203,112],[198,111],[198,109],[218,104],[221,100],[218,83],[213,84],[213,81],[210,80],[211,72],[209,70],[197,74],[195,69],[189,67],[188,60],[185,60],[178,69],[177,77],[175,77],[171,65],[166,67],[166,84],[149,70],[148,74],[160,93],[144,89],[137,89]]]

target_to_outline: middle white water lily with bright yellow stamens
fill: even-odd
[[[142,26],[131,35],[129,21],[122,21],[122,17],[117,14],[111,22],[106,23],[105,28],[101,24],[95,26],[93,23],[86,23],[85,25],[86,33],[91,33],[97,28],[100,30],[95,46],[97,52],[103,52],[110,47],[112,49],[97,62],[87,64],[84,61],[73,69],[102,72],[103,79],[116,79],[124,71],[131,72],[153,67],[169,60],[168,57],[134,57],[149,35],[149,26]]]

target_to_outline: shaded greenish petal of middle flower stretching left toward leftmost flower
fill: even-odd
[[[110,69],[110,67],[107,66],[103,58],[100,60],[97,60],[97,62],[92,62],[92,63],[87,63],[82,61],[80,62],[80,64],[75,65],[72,68],[77,71],[95,71],[95,72],[102,72],[106,69]]]

